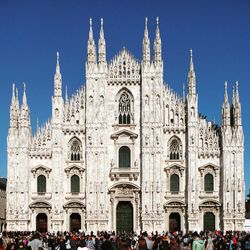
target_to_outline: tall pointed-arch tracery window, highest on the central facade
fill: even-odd
[[[131,123],[131,101],[129,94],[123,91],[119,99],[119,124]]]

